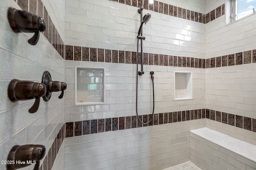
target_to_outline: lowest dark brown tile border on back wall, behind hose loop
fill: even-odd
[[[175,123],[181,121],[189,121],[194,119],[203,119],[206,116],[206,109],[196,109],[188,111],[175,111],[169,113],[155,113],[153,121],[148,125],[142,125],[137,119],[137,116],[114,117],[106,119],[94,119],[86,121],[66,122],[65,137],[74,137],[81,135],[89,135],[107,131],[117,131],[123,129],[131,129],[144,126],[161,125],[167,123]],[[151,119],[150,115],[140,115],[143,122]],[[82,126],[76,126],[80,124]]]

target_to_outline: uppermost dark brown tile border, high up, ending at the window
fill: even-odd
[[[208,23],[210,21],[219,18],[220,16],[225,15],[225,4],[222,4],[218,8],[212,10],[208,14],[201,14],[199,12],[194,12],[190,10],[186,10],[184,8],[180,8],[177,6],[173,6],[170,4],[166,4],[163,2],[152,1],[152,0],[110,0],[114,2],[119,2],[122,4],[135,6],[140,8],[143,6],[144,9],[158,12],[161,14],[166,14],[178,18],[182,18],[185,20],[196,21],[200,23]]]

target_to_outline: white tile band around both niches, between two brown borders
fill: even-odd
[[[83,121],[83,117],[76,116],[77,113],[87,114],[87,119],[136,115],[136,64],[117,63],[116,66],[118,65],[119,68],[116,68],[113,65],[114,63],[88,61],[79,61],[79,63],[90,63],[94,67],[106,67],[106,104],[104,104],[104,107],[102,105],[74,106],[74,88],[67,89],[65,94],[67,104],[65,107],[66,120]],[[66,70],[71,70],[71,72],[74,72],[74,66],[81,66],[76,61],[66,60],[65,64]],[[155,113],[204,108],[204,91],[200,90],[204,86],[204,76],[201,75],[204,72],[200,72],[200,68],[181,69],[170,67],[166,72],[166,66],[150,66],[148,68],[148,65],[145,65],[145,74],[138,79],[138,113],[140,115],[152,112],[152,81],[149,74],[152,68],[157,70],[154,74]],[[186,106],[183,105],[184,101],[174,102],[174,71],[178,70],[193,71],[193,80],[195,80],[193,84],[193,100],[190,103],[188,102]],[[168,74],[168,77],[162,78],[163,74]],[[66,75],[65,77],[68,86],[74,87],[74,74]],[[165,80],[163,81],[163,79]],[[167,105],[172,107],[167,107]],[[90,117],[88,117],[89,115]]]

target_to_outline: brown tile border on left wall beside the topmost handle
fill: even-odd
[[[61,57],[64,59],[65,45],[62,41],[56,27],[52,23],[47,10],[41,0],[14,0],[22,10],[36,14],[44,19],[46,22],[46,30],[42,34],[48,39],[49,43],[58,51]]]

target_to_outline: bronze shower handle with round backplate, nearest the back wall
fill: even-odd
[[[61,94],[59,96],[59,99],[63,98],[64,90],[67,88],[67,84],[64,82],[58,82],[58,81],[52,81],[52,77],[50,72],[45,71],[42,77],[42,84],[44,84],[47,88],[45,96],[43,96],[43,99],[45,102],[49,101],[52,92],[60,92]]]

